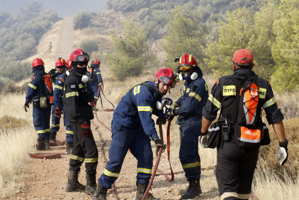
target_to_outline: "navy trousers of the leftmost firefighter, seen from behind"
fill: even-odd
[[[41,138],[50,138],[50,117],[51,107],[34,108],[33,107],[33,126],[36,133]]]

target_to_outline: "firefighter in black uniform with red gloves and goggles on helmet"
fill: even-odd
[[[74,146],[70,158],[68,184],[66,192],[83,192],[93,195],[97,188],[96,169],[98,163],[98,151],[90,128],[90,120],[94,118],[92,107],[88,104],[93,100],[91,91],[86,82],[89,55],[82,49],[74,50],[69,60],[72,70],[64,82],[63,105],[65,115],[74,133]],[[78,173],[85,160],[86,186],[78,182]]]

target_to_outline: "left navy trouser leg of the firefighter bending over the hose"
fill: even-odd
[[[123,128],[114,120],[112,120],[111,132],[112,140],[109,148],[109,162],[107,163],[103,174],[98,179],[99,184],[106,188],[111,188],[111,185],[118,178],[121,166],[123,165],[123,160],[129,147],[135,141],[135,136],[137,134],[134,133],[133,130]]]

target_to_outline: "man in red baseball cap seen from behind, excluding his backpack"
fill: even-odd
[[[235,134],[237,133],[240,84],[245,80],[256,82],[259,90],[258,101],[261,102],[256,108],[256,113],[260,113],[261,107],[266,112],[266,119],[272,124],[273,129],[279,140],[277,158],[283,158],[281,165],[286,163],[288,158],[288,141],[285,138],[283,127],[283,114],[277,108],[277,103],[273,95],[271,85],[268,81],[258,78],[252,68],[254,67],[253,55],[248,49],[239,49],[234,53],[232,62],[234,73],[232,76],[222,76],[217,80],[212,88],[208,102],[203,109],[201,145],[207,147],[208,128],[215,120],[217,111],[221,108],[222,119],[228,121],[231,127],[229,137],[222,139],[223,145],[217,148],[217,168],[216,180],[219,188],[220,199],[249,199],[254,169],[257,164],[259,148],[240,148],[236,143]],[[252,111],[253,112],[253,111]],[[226,117],[227,116],[227,117]],[[260,116],[257,115],[257,124],[261,123]],[[234,129],[236,127],[236,129]],[[223,127],[222,127],[223,128]],[[221,135],[225,136],[224,129]],[[229,132],[225,130],[225,132]],[[240,138],[239,138],[240,140]],[[248,139],[248,142],[251,142]]]

